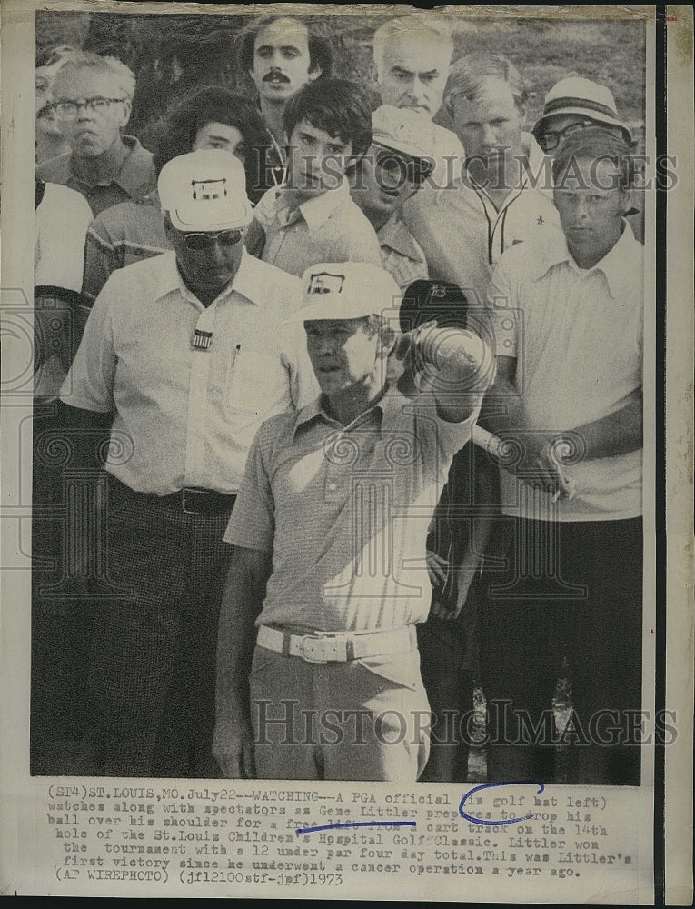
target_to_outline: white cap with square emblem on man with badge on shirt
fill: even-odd
[[[181,231],[233,230],[251,223],[243,164],[219,148],[168,161],[157,189],[162,210]]]

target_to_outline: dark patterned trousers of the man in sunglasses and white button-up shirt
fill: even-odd
[[[95,775],[216,777],[217,623],[231,509],[184,514],[109,483],[89,678]]]

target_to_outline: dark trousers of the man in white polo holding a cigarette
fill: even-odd
[[[551,696],[571,672],[579,784],[640,783],[642,523],[517,519],[506,568],[487,570],[478,624],[488,779],[552,782]]]

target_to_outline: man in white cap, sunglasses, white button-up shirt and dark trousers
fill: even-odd
[[[89,744],[97,775],[210,776],[224,527],[256,429],[316,384],[283,326],[299,279],[244,250],[241,162],[180,155],[158,190],[174,249],[109,277],[62,389],[87,428],[110,425]]]

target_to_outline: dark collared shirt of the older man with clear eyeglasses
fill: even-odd
[[[123,135],[121,138],[127,149],[123,164],[116,174],[97,184],[86,183],[74,173],[72,153],[45,161],[39,165],[36,174],[42,180],[69,186],[82,193],[94,216],[111,205],[142,198],[157,185],[152,152],[143,148],[134,135]]]

